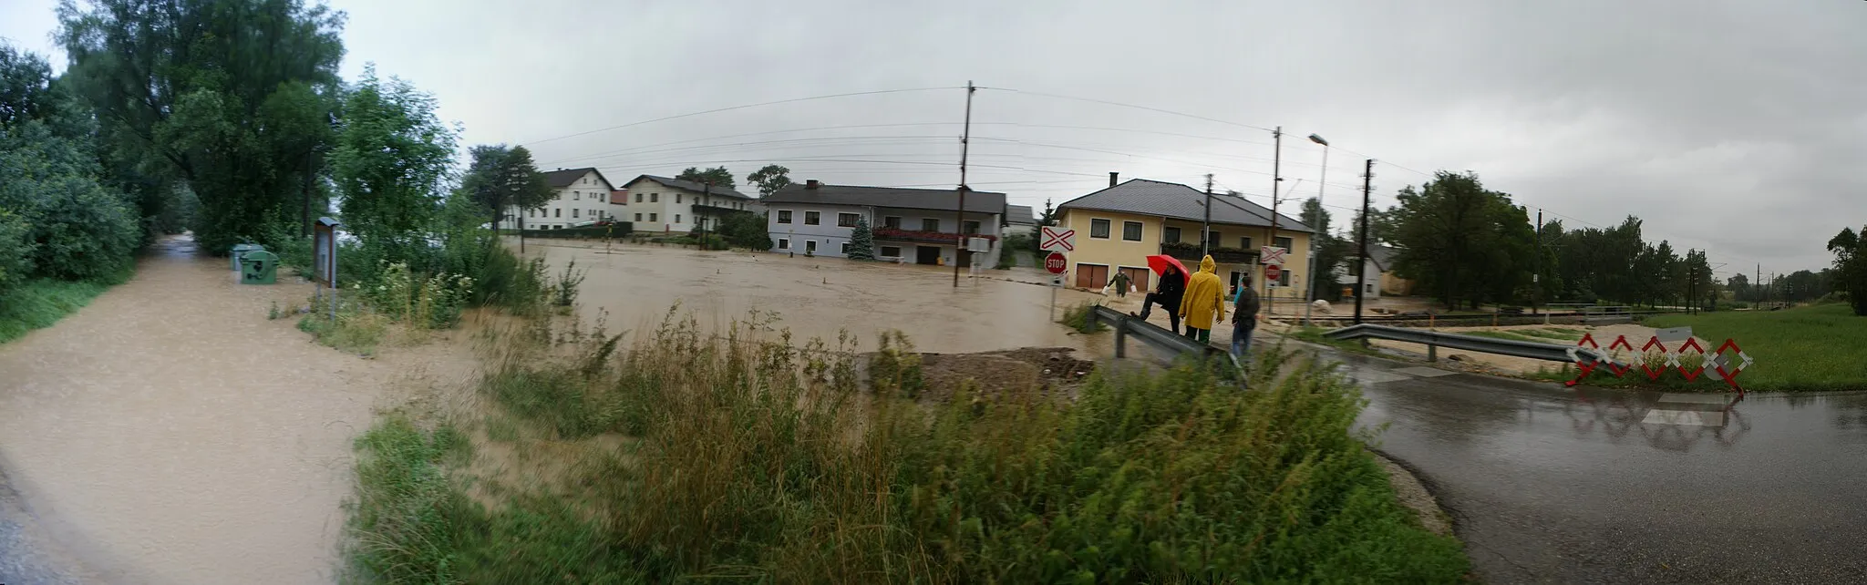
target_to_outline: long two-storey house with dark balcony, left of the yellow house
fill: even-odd
[[[857,222],[868,222],[877,260],[945,265],[995,265],[1004,224],[1004,193],[967,191],[963,224],[954,189],[825,185],[808,179],[764,198],[773,252],[846,258]],[[965,252],[982,237],[990,252]]]

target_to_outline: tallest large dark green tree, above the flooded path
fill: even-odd
[[[329,136],[344,15],[299,0],[77,0],[58,7],[75,92],[105,166],[142,217],[175,181],[213,252],[289,217]]]

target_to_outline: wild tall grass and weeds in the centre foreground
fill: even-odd
[[[793,348],[758,323],[713,336],[670,312],[629,346],[601,333],[564,338],[547,327],[497,338],[484,396],[554,441],[627,435],[629,447],[594,447],[596,464],[564,478],[575,497],[558,503],[571,510],[515,497],[480,523],[433,520],[448,521],[437,531],[355,521],[355,540],[377,553],[456,548],[360,563],[368,574],[1443,583],[1467,568],[1456,540],[1426,533],[1395,501],[1369,437],[1352,430],[1365,404],[1354,385],[1311,359],[1271,357],[1251,392],[1189,363],[1096,374],[1068,404],[965,389],[930,404],[907,396],[909,363],[861,376],[848,336]],[[398,452],[360,449],[368,462]],[[433,452],[416,454],[444,467]],[[407,495],[364,505],[420,521],[454,507],[424,490],[383,493]],[[476,533],[512,518],[577,536],[519,546]]]

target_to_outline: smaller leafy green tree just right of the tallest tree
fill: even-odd
[[[456,131],[435,118],[435,99],[413,84],[375,77],[345,90],[330,174],[344,222],[364,239],[411,243],[441,209]]]

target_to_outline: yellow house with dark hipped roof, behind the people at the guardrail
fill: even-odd
[[[1206,224],[1208,194],[1180,183],[1128,179],[1057,206],[1057,222],[1075,230],[1075,252],[1068,252],[1070,273],[1077,288],[1102,288],[1115,273],[1128,273],[1135,290],[1154,286],[1146,256],[1178,258],[1187,269],[1199,269],[1200,226]],[[1251,275],[1264,292],[1264,265],[1258,249],[1273,243],[1284,250],[1283,275],[1270,286],[1275,299],[1303,299],[1309,282],[1309,235],[1303,222],[1277,213],[1271,234],[1271,209],[1240,196],[1212,194],[1212,222],[1208,252],[1217,262],[1219,278],[1238,284]],[[1281,211],[1281,209],[1279,209]],[[1230,290],[1230,288],[1228,288]]]

